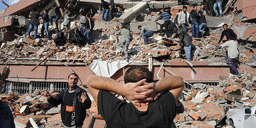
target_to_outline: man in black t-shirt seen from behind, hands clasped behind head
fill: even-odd
[[[108,128],[169,128],[176,114],[176,101],[184,87],[183,79],[172,76],[157,83],[152,81],[149,69],[134,66],[125,73],[125,84],[95,75],[89,76],[87,84]],[[125,96],[130,103],[121,101],[109,91]]]

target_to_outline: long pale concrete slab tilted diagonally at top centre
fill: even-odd
[[[124,24],[131,22],[133,19],[135,19],[135,17],[143,13],[143,11],[147,9],[147,7],[148,7],[147,2],[143,2],[143,1],[140,2],[134,7],[132,7],[131,9],[129,9],[129,11],[123,13],[123,15],[119,17],[119,21]]]

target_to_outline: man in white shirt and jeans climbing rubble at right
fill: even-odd
[[[219,45],[215,50],[220,49],[221,47],[227,47],[225,61],[227,61],[229,67],[237,77],[241,78],[242,75],[237,70],[237,65],[239,63],[239,51],[237,49],[237,41],[235,41],[235,37],[229,37],[229,41]]]

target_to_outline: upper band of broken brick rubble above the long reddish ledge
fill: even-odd
[[[152,12],[151,15],[145,15],[145,20],[152,21],[156,19],[159,14]],[[230,14],[229,17],[233,17]],[[101,16],[97,13],[94,17],[95,22],[101,23]],[[136,22],[136,21],[132,21]],[[76,23],[76,21],[73,21]],[[93,45],[86,45],[85,47],[78,47],[77,45],[66,43],[64,47],[56,47],[53,40],[47,38],[38,38],[35,40],[29,39],[23,36],[17,36],[14,41],[7,41],[7,43],[1,44],[0,60],[8,61],[38,61],[38,59],[43,59],[46,55],[49,55],[53,49],[57,49],[56,53],[51,55],[49,59],[51,61],[73,61],[85,63],[85,65],[90,65],[93,60],[100,59],[102,61],[119,61],[123,60],[123,55],[121,53],[116,53],[119,43],[117,42],[115,35],[115,27],[109,27],[107,29],[102,29],[95,25],[95,31],[93,31],[93,37],[95,37]],[[110,21],[115,25],[119,25],[118,21],[115,19]],[[241,22],[231,22],[228,23],[230,27],[232,26],[255,26],[255,23],[241,23]],[[71,24],[73,25],[73,24]],[[53,27],[49,28],[53,31]],[[41,28],[39,26],[39,28]],[[217,47],[221,31],[223,29],[211,29],[210,35],[205,38],[193,39],[193,45],[195,45],[195,53],[193,53],[193,60],[209,61],[210,65],[226,65],[225,64],[225,49],[219,49],[215,51]],[[40,30],[39,30],[40,31]],[[191,35],[191,31],[189,31]],[[33,32],[31,33],[33,35]],[[100,35],[97,37],[97,35]],[[55,37],[55,34],[52,35]],[[138,40],[139,33],[133,33],[133,41],[129,45],[129,57],[130,60],[135,62],[147,62],[149,55],[155,57],[154,62],[159,61],[157,57],[160,57],[160,61],[165,59],[165,61],[179,61],[185,57],[184,51],[177,48],[177,41],[171,41],[168,39],[163,39],[164,37],[159,36],[155,33],[153,37],[149,38],[149,45],[144,45],[143,39]],[[252,67],[256,66],[256,55],[255,43],[250,43],[248,41],[239,41],[239,51],[240,57],[239,61],[243,65],[249,65]]]

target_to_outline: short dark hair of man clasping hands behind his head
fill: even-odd
[[[125,83],[136,83],[141,79],[147,79],[147,83],[153,81],[153,73],[143,66],[132,66],[125,73]]]

